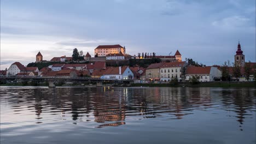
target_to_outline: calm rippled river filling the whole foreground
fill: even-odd
[[[0,92],[1,143],[256,139],[253,88],[1,87]]]

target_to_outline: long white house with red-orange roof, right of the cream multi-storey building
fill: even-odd
[[[200,82],[214,81],[214,78],[220,77],[220,71],[217,67],[188,67],[185,74],[185,81],[189,81],[193,76],[199,77]]]

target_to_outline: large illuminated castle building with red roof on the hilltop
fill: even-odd
[[[125,55],[125,47],[120,45],[99,45],[94,49],[95,57],[106,57],[108,54],[122,53]]]

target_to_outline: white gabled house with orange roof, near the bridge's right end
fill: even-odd
[[[133,80],[133,73],[128,66],[124,67],[110,67],[101,76],[101,79],[131,79]]]

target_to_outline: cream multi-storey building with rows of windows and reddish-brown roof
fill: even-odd
[[[182,81],[184,66],[185,62],[165,62],[160,67],[160,80],[171,81],[176,77],[178,81]]]

